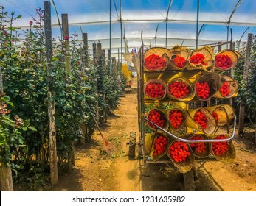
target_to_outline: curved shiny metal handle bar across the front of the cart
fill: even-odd
[[[145,116],[145,114],[143,114],[143,117],[145,118],[146,121],[148,121],[149,123],[153,124],[154,126],[156,126],[158,129],[162,130],[162,132],[165,132],[167,133],[167,135],[170,135],[172,136],[173,138],[176,138],[176,140],[179,140],[179,141],[183,141],[183,142],[186,142],[186,143],[198,143],[198,142],[224,142],[224,141],[232,141],[233,138],[235,138],[235,127],[236,127],[236,116],[234,118],[234,129],[233,129],[233,132],[232,132],[232,136],[230,138],[227,138],[227,139],[221,139],[221,140],[214,140],[214,139],[211,139],[211,140],[187,140],[187,139],[182,139],[182,138],[179,138],[177,137],[176,135],[173,135],[172,133],[166,131],[165,129],[162,129],[162,127],[159,127],[158,125],[154,124],[152,121],[148,120],[148,118]]]

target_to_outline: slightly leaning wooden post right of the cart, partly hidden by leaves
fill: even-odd
[[[247,82],[247,77],[248,77],[248,70],[249,70],[249,60],[250,60],[250,55],[251,55],[251,46],[252,46],[252,34],[248,34],[248,40],[247,40],[247,46],[246,46],[246,60],[244,62],[244,68],[243,68],[243,80],[245,82],[245,87],[246,82]],[[246,110],[246,101],[245,101],[245,96],[242,96],[241,103],[240,103],[240,108],[239,108],[239,126],[238,126],[238,135],[243,133],[243,127],[244,127],[244,113]]]

